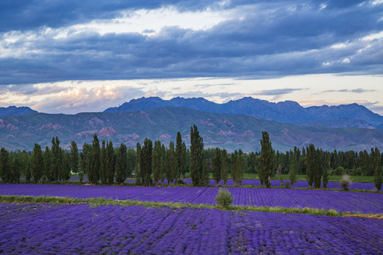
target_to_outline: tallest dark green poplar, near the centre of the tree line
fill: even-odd
[[[190,130],[190,177],[193,186],[199,186],[203,171],[204,139],[199,136],[199,131],[196,125],[193,125]]]

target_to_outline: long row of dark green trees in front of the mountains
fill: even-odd
[[[270,179],[275,174],[289,174],[294,186],[296,175],[306,175],[309,186],[319,188],[321,179],[326,188],[328,175],[351,174],[382,176],[383,154],[372,148],[371,153],[363,152],[326,152],[310,144],[299,149],[294,147],[286,153],[272,149],[269,134],[262,132],[261,152],[245,154],[241,149],[229,154],[226,149],[204,149],[203,138],[196,125],[190,130],[191,145],[188,149],[180,132],[176,143],[171,141],[165,147],[160,141],[154,146],[145,138],[143,145],[138,142],[135,149],[127,148],[123,143],[113,147],[111,141],[100,141],[94,135],[91,144],[84,143],[79,152],[76,142],[72,141],[69,150],[60,147],[58,137],[52,138],[52,146],[35,144],[32,152],[9,152],[4,147],[0,151],[0,175],[5,182],[16,183],[21,176],[35,183],[68,181],[72,174],[79,176],[80,182],[87,175],[89,182],[102,184],[123,183],[134,173],[137,185],[158,185],[182,183],[185,173],[189,172],[194,186],[209,184],[209,174],[216,184],[223,181],[226,185],[229,176],[235,185],[241,185],[244,173],[257,173],[260,182],[270,187]],[[380,174],[379,174],[380,173]],[[379,185],[378,185],[379,186]]]

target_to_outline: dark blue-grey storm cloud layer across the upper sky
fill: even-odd
[[[4,12],[1,8],[4,3],[12,3],[7,8],[15,15]],[[0,13],[0,30],[36,29],[35,33],[41,35],[31,41],[21,37],[16,42],[3,42],[5,47],[27,50],[17,57],[0,57],[0,84],[383,73],[383,39],[361,39],[383,30],[383,4],[372,5],[370,1],[259,1],[257,4],[166,1],[166,6],[176,6],[179,10],[203,10],[208,6],[235,8],[238,17],[208,30],[170,26],[154,36],[83,32],[60,39],[44,35],[42,28],[38,28],[114,18],[124,9],[158,8],[165,6],[165,1],[111,1],[112,4],[65,1],[72,4],[63,6],[57,3],[60,1],[1,2],[4,13]],[[61,11],[54,15],[57,10]],[[28,15],[14,18],[16,13]]]

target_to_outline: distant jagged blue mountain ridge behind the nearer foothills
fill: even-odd
[[[123,103],[118,107],[108,108],[104,113],[145,111],[163,106],[186,107],[209,113],[256,115],[265,120],[301,126],[321,125],[328,128],[383,129],[383,116],[373,113],[365,106],[360,106],[357,103],[304,108],[294,101],[272,103],[251,97],[228,103],[214,103],[204,98],[177,97],[171,100],[162,100],[159,97],[143,97]]]

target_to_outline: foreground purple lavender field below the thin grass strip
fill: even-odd
[[[383,221],[201,208],[0,204],[0,253],[381,254]]]

